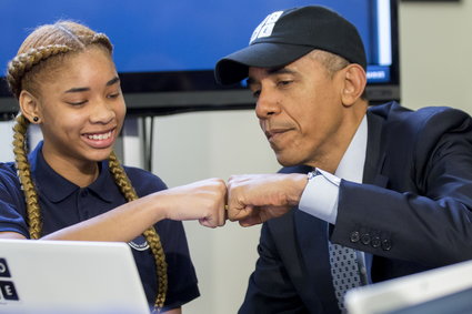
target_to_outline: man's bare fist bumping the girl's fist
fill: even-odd
[[[228,219],[242,226],[263,223],[295,206],[307,185],[305,174],[247,174],[228,180]]]

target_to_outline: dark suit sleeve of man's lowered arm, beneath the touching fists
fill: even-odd
[[[307,313],[277,252],[270,226],[264,223],[258,245],[259,260],[249,278],[239,314]]]

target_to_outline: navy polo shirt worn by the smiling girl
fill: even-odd
[[[46,162],[42,142],[29,155],[31,175],[37,188],[42,217],[42,235],[106,213],[123,203],[108,161],[100,162],[98,179],[80,188],[54,172]],[[137,168],[124,168],[139,196],[167,189],[155,175]],[[0,232],[11,231],[29,237],[24,195],[14,163],[0,163]],[[179,307],[200,295],[190,260],[183,225],[163,220],[155,224],[165,252],[169,290],[165,308]],[[158,290],[155,262],[144,236],[130,242],[148,302],[154,303]]]

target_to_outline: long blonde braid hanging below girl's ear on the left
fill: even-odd
[[[38,203],[38,194],[34,183],[31,180],[30,164],[28,162],[26,149],[26,134],[29,121],[20,113],[13,125],[13,153],[17,162],[18,175],[22,184],[24,199],[27,202],[28,225],[30,229],[30,237],[39,239],[41,235],[41,215]]]

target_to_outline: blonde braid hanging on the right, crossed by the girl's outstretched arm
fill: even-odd
[[[123,193],[124,197],[128,202],[138,200],[138,194],[134,191],[134,188],[131,185],[131,182],[124,172],[123,168],[120,165],[117,155],[114,152],[110,154],[109,158],[109,168],[112,173],[117,185],[120,188],[121,193]],[[160,310],[164,305],[165,293],[168,290],[168,275],[167,275],[167,263],[165,263],[165,254],[162,249],[161,240],[159,234],[157,233],[153,226],[150,226],[148,230],[143,232],[145,240],[148,241],[151,251],[155,259],[157,272],[159,277],[159,287],[158,287],[158,296],[154,303],[154,310],[159,313]]]

